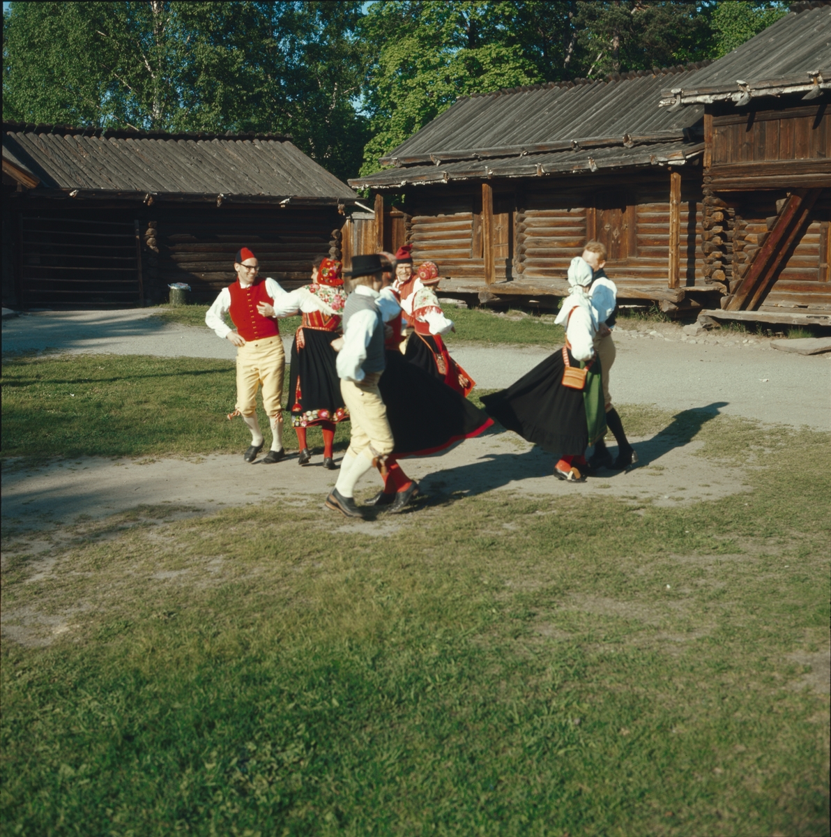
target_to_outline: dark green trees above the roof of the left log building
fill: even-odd
[[[276,131],[339,177],[366,120],[360,3],[12,3],[3,118],[162,131]]]

